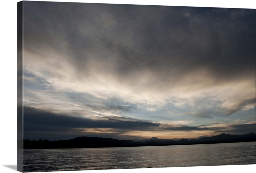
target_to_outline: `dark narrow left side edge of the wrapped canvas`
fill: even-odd
[[[23,1],[17,3],[17,170],[23,172]]]

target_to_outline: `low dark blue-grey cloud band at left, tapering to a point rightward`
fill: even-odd
[[[122,121],[123,118],[93,120],[89,118],[65,116],[47,111],[24,107],[24,130],[34,131],[70,131],[72,128],[117,128],[147,129],[158,127],[159,123],[144,121]]]

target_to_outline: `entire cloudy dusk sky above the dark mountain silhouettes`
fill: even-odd
[[[24,139],[255,133],[255,9],[24,2]]]

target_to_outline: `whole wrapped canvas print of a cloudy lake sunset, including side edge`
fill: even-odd
[[[255,164],[255,9],[18,2],[18,170]]]

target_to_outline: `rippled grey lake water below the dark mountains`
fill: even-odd
[[[255,142],[25,149],[24,172],[255,164]]]

